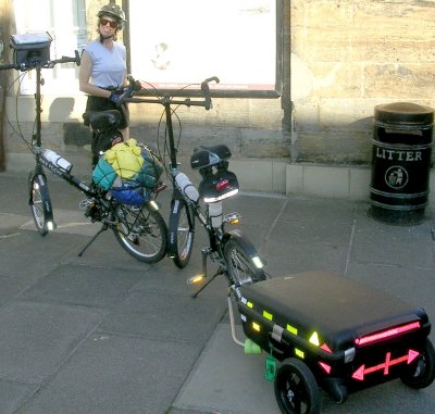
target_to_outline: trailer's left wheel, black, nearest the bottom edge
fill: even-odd
[[[308,365],[295,357],[285,360],[275,378],[275,397],[282,413],[320,413],[319,386]]]

